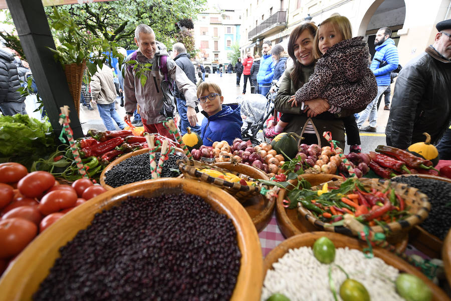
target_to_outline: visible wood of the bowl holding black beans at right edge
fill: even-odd
[[[445,177],[439,177],[434,175],[424,175],[424,174],[409,174],[400,175],[393,177],[396,179],[399,177],[411,177],[416,176],[423,179],[438,180],[443,182],[451,183],[451,179]],[[432,205],[432,203],[431,203]],[[433,206],[433,205],[432,205]],[[443,241],[437,236],[427,232],[420,225],[413,227],[409,231],[409,243],[412,244],[416,249],[423,252],[425,255],[431,258],[441,258],[441,250],[443,248]]]

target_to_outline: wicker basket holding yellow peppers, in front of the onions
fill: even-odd
[[[235,196],[240,202],[246,201],[250,196],[258,195],[262,188],[269,189],[268,186],[261,184],[259,182],[256,182],[257,186],[241,185],[240,183],[232,183],[220,178],[211,177],[197,170],[197,168],[200,169],[207,168],[222,173],[231,173],[237,175],[240,178],[245,179],[246,181],[254,181],[254,179],[251,177],[227,169],[222,169],[217,166],[209,165],[194,160],[179,160],[177,161],[177,163],[180,171],[183,173],[183,176],[185,178],[200,180],[212,184],[214,186],[217,186],[219,188],[222,188],[231,195]]]

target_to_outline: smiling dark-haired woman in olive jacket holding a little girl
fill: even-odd
[[[331,107],[325,99],[316,98],[304,102],[304,106],[292,106],[291,98],[296,91],[309,81],[313,74],[317,59],[313,53],[313,42],[317,27],[311,23],[305,23],[293,30],[288,42],[288,54],[293,59],[293,66],[285,70],[279,92],[275,99],[276,110],[284,114],[294,114],[294,118],[285,127],[285,132],[301,134],[304,129],[303,143],[318,143],[315,127],[319,132],[321,145],[328,145],[322,136],[324,131],[330,131],[332,138],[339,142],[338,146],[344,147],[344,123],[341,114],[350,114],[346,110],[340,112],[340,116],[328,111]],[[305,109],[307,107],[307,109]],[[307,114],[305,114],[307,113]]]

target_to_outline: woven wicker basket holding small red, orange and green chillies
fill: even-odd
[[[406,219],[388,223],[383,228],[381,226],[372,226],[372,231],[379,233],[388,233],[388,235],[399,234],[401,231],[407,231],[427,218],[430,210],[430,203],[427,196],[421,193],[418,189],[409,187],[406,184],[392,183],[390,181],[382,179],[360,179],[359,181],[366,189],[374,188],[378,191],[383,191],[388,186],[394,188],[395,192],[404,199],[406,207],[409,207],[408,212],[411,214]],[[343,182],[343,180],[336,180],[329,181],[327,183],[329,186],[339,187]],[[312,190],[321,188],[322,186],[318,185],[312,187]],[[318,220],[309,210],[304,208],[301,204],[298,204],[298,211],[306,220],[315,225],[318,229],[342,233],[346,235],[358,234],[358,231],[356,231],[356,229],[348,229],[344,226],[332,226],[330,223],[325,223]]]

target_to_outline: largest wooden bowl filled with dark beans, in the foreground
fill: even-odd
[[[41,233],[0,300],[259,300],[263,256],[243,206],[194,180],[125,185]]]

